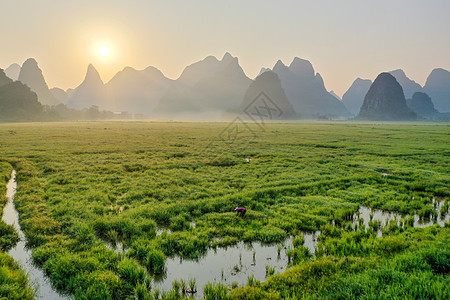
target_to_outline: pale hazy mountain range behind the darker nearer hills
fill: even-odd
[[[388,73],[402,87],[408,104],[415,103],[411,105],[416,105],[416,109],[432,111],[423,95],[413,97],[417,92],[426,93],[432,109],[450,112],[449,71],[434,69],[424,87],[401,69]],[[42,70],[32,58],[22,66],[12,64],[5,74],[30,87],[43,105],[66,104],[79,110],[96,106],[158,119],[229,118],[239,113],[252,96],[257,97],[258,89],[281,103],[286,112],[281,119],[346,119],[360,114],[372,85],[371,80],[357,78],[341,100],[333,91],[327,91],[321,75],[307,60],[295,58],[289,66],[279,60],[272,69],[262,68],[252,80],[239,65],[238,58],[229,53],[221,60],[208,56],[186,67],[176,80],[165,77],[154,67],[144,70],[126,67],[104,83],[95,67],[89,65],[82,83],[66,91],[49,89]]]

